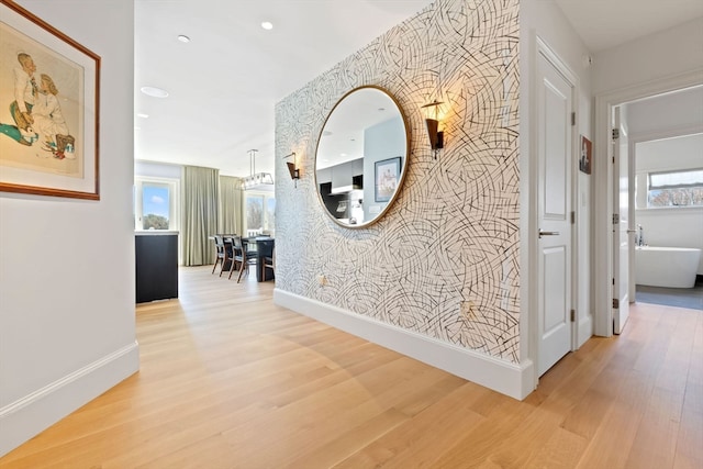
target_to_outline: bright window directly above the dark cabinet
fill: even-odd
[[[134,185],[135,230],[178,230],[178,180],[142,179]]]

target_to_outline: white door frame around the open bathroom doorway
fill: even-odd
[[[594,335],[613,335],[613,165],[609,146],[611,143],[610,116],[613,108],[631,101],[703,85],[701,70],[645,81],[631,87],[595,96],[595,150],[593,172],[594,191],[594,239],[593,289]],[[598,190],[601,189],[601,190]]]

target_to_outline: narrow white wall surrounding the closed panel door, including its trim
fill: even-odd
[[[521,205],[525,208],[536,206],[533,181],[535,174],[531,172],[531,157],[533,150],[532,133],[532,111],[535,103],[531,101],[532,90],[535,89],[534,68],[536,53],[536,37],[544,41],[566,64],[571,74],[578,77],[577,83],[577,138],[584,135],[593,141],[591,104],[591,66],[589,65],[589,51],[570,27],[568,20],[554,2],[539,0],[521,1],[521,103],[520,103],[520,139],[521,139],[521,174],[531,175],[531,178],[521,178]],[[576,156],[574,156],[576,161]],[[578,165],[573,165],[576,175],[576,191],[573,194],[573,210],[577,214],[576,256],[577,270],[574,272],[576,282],[576,311],[579,321],[578,343],[581,344],[592,335],[592,186],[593,177],[578,170]],[[521,230],[523,233],[536,233],[538,227],[534,225],[534,210],[523,210],[521,212]],[[522,304],[523,309],[529,304],[528,297],[535,291],[535,286],[531,280],[535,278],[527,272],[532,272],[527,254],[529,252],[529,237],[522,238],[521,264],[523,266]],[[522,317],[523,321],[527,315]],[[521,348],[528,344],[527,334],[529,328],[526,324],[521,324],[522,338]]]

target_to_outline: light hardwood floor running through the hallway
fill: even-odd
[[[638,304],[518,402],[183,268],[142,364],[10,468],[703,468],[703,313]]]

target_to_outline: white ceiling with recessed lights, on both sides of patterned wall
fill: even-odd
[[[556,2],[591,52],[703,16],[701,0],[535,1]],[[275,104],[429,3],[136,0],[135,158],[248,176],[256,148],[256,171],[272,172]]]

